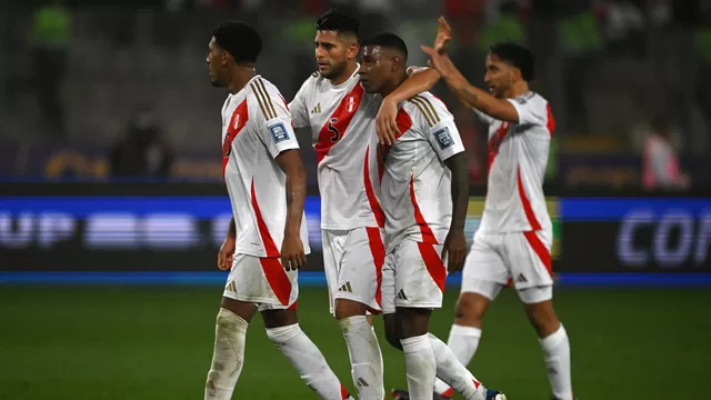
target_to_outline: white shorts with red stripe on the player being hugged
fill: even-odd
[[[397,307],[442,307],[447,267],[441,253],[441,244],[408,238],[388,253],[382,269],[383,313],[393,313]]]

